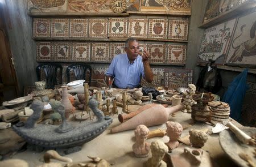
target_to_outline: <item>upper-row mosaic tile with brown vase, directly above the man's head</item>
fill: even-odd
[[[129,37],[147,37],[148,19],[129,19]]]

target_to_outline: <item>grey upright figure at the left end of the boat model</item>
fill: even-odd
[[[40,100],[34,100],[30,106],[30,108],[34,111],[33,114],[28,117],[25,127],[33,128],[35,126],[36,121],[41,117],[41,113],[44,108],[44,103]]]

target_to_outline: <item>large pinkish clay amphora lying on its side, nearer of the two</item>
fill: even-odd
[[[135,129],[138,125],[146,125],[147,127],[161,125],[168,121],[170,114],[183,109],[184,105],[182,104],[172,106],[171,108],[165,108],[162,105],[156,105],[135,115],[133,118],[122,123],[121,125],[114,127],[111,132],[115,133]]]

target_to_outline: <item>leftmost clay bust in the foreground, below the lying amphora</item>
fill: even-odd
[[[147,157],[150,151],[150,143],[146,142],[148,128],[144,125],[139,125],[134,130],[136,143],[133,144],[133,152],[137,157]]]

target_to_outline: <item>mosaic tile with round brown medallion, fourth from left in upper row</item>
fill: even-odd
[[[108,19],[89,19],[89,37],[106,38]]]

